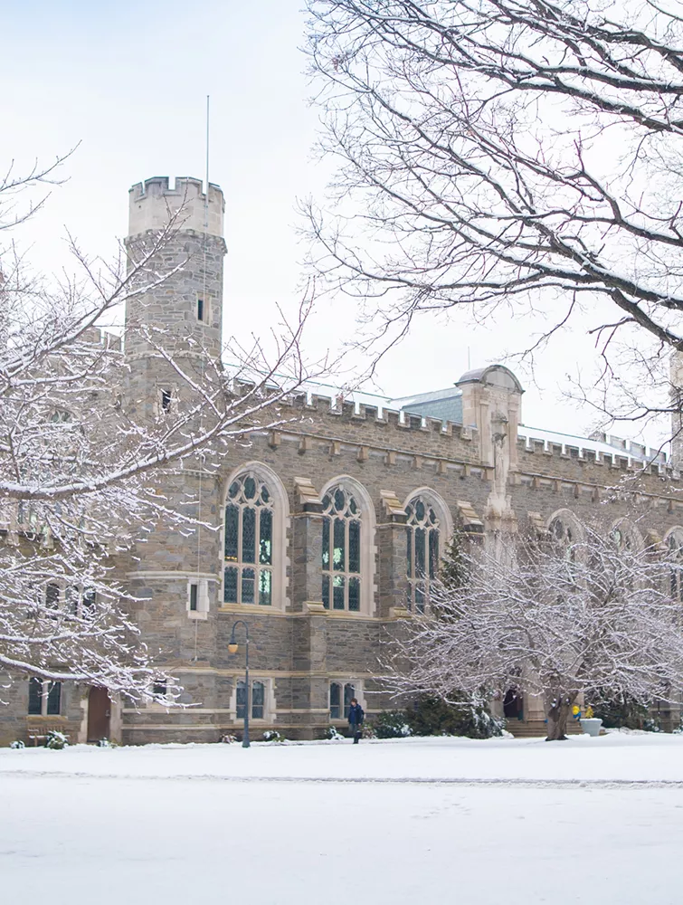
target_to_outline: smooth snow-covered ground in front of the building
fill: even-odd
[[[681,851],[681,736],[0,749],[3,905],[678,903]]]

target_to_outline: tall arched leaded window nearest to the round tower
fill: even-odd
[[[251,472],[232,481],[225,506],[226,604],[272,603],[272,494]]]

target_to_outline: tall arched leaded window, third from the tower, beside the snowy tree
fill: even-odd
[[[439,571],[439,530],[436,511],[422,497],[405,507],[406,575],[408,609],[423,613],[429,601],[430,585]]]

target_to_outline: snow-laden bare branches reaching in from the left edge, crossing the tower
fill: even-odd
[[[14,206],[17,190],[48,176],[7,183],[11,206],[0,186],[0,226],[24,222],[32,206]],[[183,264],[169,267],[164,252],[182,219],[181,208],[111,265],[72,244],[78,275],[61,282],[32,276],[12,243],[0,251],[0,668],[10,681],[78,681],[131,700],[167,681],[164,700],[177,698],[139,639],[117,567],[157,519],[186,534],[215,529],[197,500],[180,510],[164,487],[289,420],[283,404],[311,376],[300,345],[308,301],[272,330],[270,357],[259,339],[232,341],[230,368],[163,326],[128,319],[123,337],[98,328],[120,303],[173,285]],[[173,376],[169,405],[136,404],[128,344]]]

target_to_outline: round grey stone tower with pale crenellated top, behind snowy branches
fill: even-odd
[[[163,427],[165,414],[172,421],[185,402],[194,401],[188,382],[158,348],[172,354],[197,382],[220,362],[223,212],[221,189],[209,185],[207,197],[199,179],[176,178],[171,188],[166,176],[155,177],[130,189],[125,245],[131,261],[140,262],[160,242],[139,277],[147,288],[128,299],[126,309],[124,398],[138,424]],[[194,424],[188,429],[194,430]],[[170,510],[204,521],[215,518],[219,482],[201,456],[170,466],[163,483]],[[202,667],[215,649],[218,544],[215,532],[196,527],[181,531],[158,519],[140,538],[128,573],[150,651],[178,676],[186,700],[201,700],[204,707],[213,705],[215,693]]]

